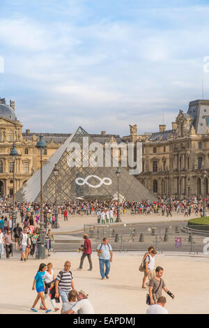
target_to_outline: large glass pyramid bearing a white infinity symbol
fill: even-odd
[[[53,173],[54,165],[59,168],[57,176],[57,202],[63,203],[69,200],[113,200],[118,195],[118,179],[116,167],[70,167],[68,150],[71,142],[76,142],[81,147],[82,161],[85,160],[85,152],[82,148],[83,138],[88,137],[89,145],[95,140],[88,135],[82,127],[70,135],[68,140],[49,158],[42,167],[43,199],[45,202],[55,201],[56,182]],[[88,152],[88,159],[91,152]],[[77,161],[77,156],[75,156]],[[83,162],[82,162],[83,163]],[[126,201],[156,200],[134,175],[129,174],[125,167],[118,165],[121,170],[119,179],[119,198]],[[17,202],[40,202],[40,169],[17,191]]]

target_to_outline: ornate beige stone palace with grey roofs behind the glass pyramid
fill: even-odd
[[[0,98],[0,194],[13,195],[13,160],[10,149],[15,143],[15,193],[40,167],[36,148],[40,133],[22,132],[17,120],[15,102],[6,104]],[[43,161],[47,161],[70,133],[42,133],[47,142]],[[141,184],[156,196],[193,197],[208,195],[209,172],[209,100],[194,100],[187,113],[180,110],[171,130],[160,125],[155,133],[137,134],[137,125],[130,126],[130,135],[91,134],[95,141],[142,142]],[[123,157],[123,150],[119,152]]]

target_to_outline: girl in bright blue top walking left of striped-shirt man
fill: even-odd
[[[41,263],[39,266],[38,272],[33,281],[32,290],[35,290],[35,285],[36,285],[36,292],[38,293],[32,307],[31,307],[31,311],[33,311],[33,312],[38,312],[38,310],[36,310],[35,306],[38,303],[39,299],[41,299],[42,305],[44,306],[46,313],[49,313],[50,311],[52,311],[51,309],[48,309],[45,304],[44,292],[45,292],[45,271],[46,271],[46,269],[47,269],[46,264]]]

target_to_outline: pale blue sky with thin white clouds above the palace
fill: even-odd
[[[0,97],[23,131],[171,129],[209,99],[208,15],[208,0],[1,0]]]

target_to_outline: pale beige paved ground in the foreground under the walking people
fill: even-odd
[[[98,257],[93,253],[93,271],[77,271],[79,253],[56,253],[45,260],[52,262],[57,274],[65,260],[72,263],[75,288],[89,293],[95,313],[145,313],[146,290],[141,289],[143,274],[138,270],[142,253],[114,253],[109,280],[100,280]],[[33,278],[40,260],[30,258],[20,262],[17,258],[1,259],[0,313],[31,313],[29,311],[36,292],[31,290]],[[157,255],[156,265],[164,268],[164,281],[175,295],[172,300],[167,294],[169,313],[208,313],[209,258],[180,255]],[[50,306],[49,300],[47,301]],[[44,313],[40,311],[39,313]],[[54,314],[54,312],[52,312]]]

